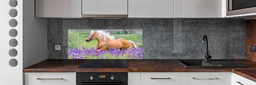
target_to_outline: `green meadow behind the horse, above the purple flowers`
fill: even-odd
[[[79,37],[81,38],[81,47],[88,47],[88,48],[96,48],[97,40],[92,40],[90,42],[86,42],[86,38],[88,35],[90,35],[90,31],[76,31],[79,33]],[[111,34],[111,36],[116,37],[115,39],[124,38],[125,40],[131,40],[136,43],[137,46],[142,47],[143,46],[143,35],[142,34]],[[76,48],[81,48],[76,47]],[[75,48],[75,47],[73,47]]]

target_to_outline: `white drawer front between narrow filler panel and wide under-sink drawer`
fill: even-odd
[[[141,85],[179,85],[179,73],[143,72]]]

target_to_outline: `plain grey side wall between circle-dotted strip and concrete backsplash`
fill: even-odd
[[[47,19],[35,18],[35,0],[23,0],[23,68],[47,59]]]

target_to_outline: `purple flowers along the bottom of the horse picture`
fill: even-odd
[[[111,49],[96,51],[94,48],[70,48],[68,59],[142,59],[143,48],[128,48],[125,50]]]

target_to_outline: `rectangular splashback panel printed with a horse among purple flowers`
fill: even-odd
[[[68,59],[142,59],[142,29],[68,29]]]

